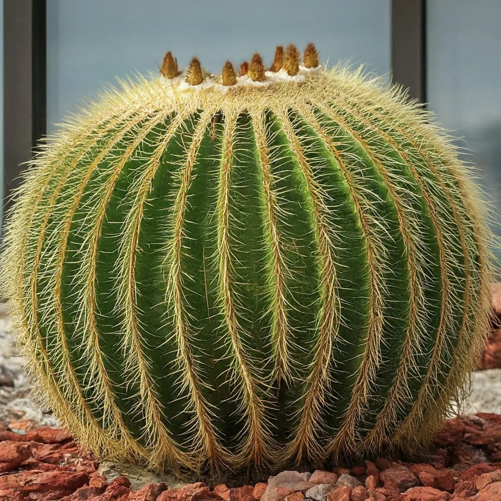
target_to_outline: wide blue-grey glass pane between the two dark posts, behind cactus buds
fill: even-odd
[[[390,0],[50,0],[47,31],[49,124],[115,77],[157,73],[168,50],[219,73],[227,59],[258,51],[271,64],[276,45],[314,42],[324,63],[390,71]]]

